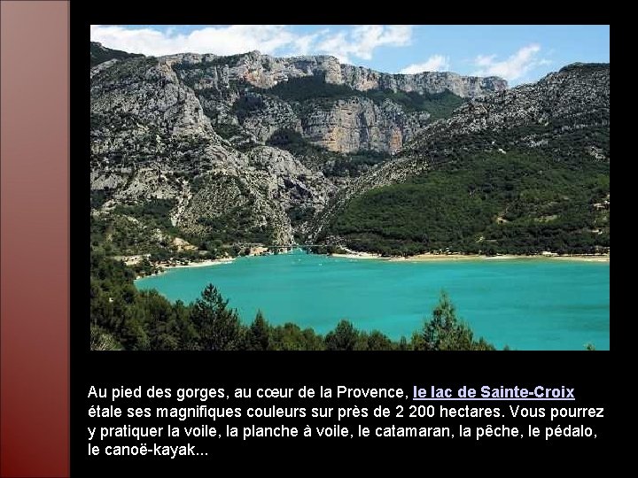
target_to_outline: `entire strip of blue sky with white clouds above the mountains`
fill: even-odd
[[[332,55],[387,73],[453,71],[536,81],[570,63],[609,62],[609,26],[94,25],[91,40],[145,55],[260,50]]]

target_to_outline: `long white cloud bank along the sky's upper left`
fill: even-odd
[[[294,33],[285,25],[231,25],[201,27],[188,34],[175,28],[125,28],[93,25],[90,37],[105,47],[145,55],[172,53],[214,53],[232,55],[260,50],[271,55],[325,53],[342,61],[370,59],[380,46],[405,46],[412,38],[412,27],[404,25],[360,25],[331,32],[329,29],[307,35]]]

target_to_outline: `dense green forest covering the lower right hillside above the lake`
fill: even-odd
[[[407,182],[371,189],[327,234],[361,251],[534,254],[609,248],[609,163],[541,150],[448,159]]]

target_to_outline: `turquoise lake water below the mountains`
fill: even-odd
[[[347,319],[393,339],[423,326],[445,289],[457,315],[498,348],[610,347],[610,265],[551,259],[386,261],[295,251],[229,264],[170,269],[136,281],[190,303],[207,283],[242,320],[258,309],[272,324],[295,322],[324,334]]]

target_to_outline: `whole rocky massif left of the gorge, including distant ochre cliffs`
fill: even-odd
[[[420,100],[417,89],[445,89],[456,104],[463,100],[448,89],[474,97],[504,88],[497,79],[386,75],[336,58],[257,52],[152,58],[91,43],[91,63],[91,190],[100,227],[108,231],[105,223],[126,208],[164,201],[183,235],[222,243],[233,235],[275,243],[304,235],[350,174],[369,167],[360,159],[352,166],[348,153],[397,150],[431,119],[385,97],[393,91]],[[362,91],[378,97],[357,96]],[[272,144],[289,133],[292,144]],[[124,224],[145,234],[144,220]]]

